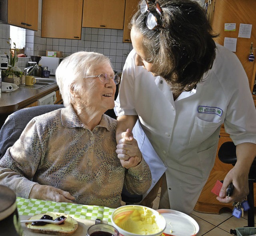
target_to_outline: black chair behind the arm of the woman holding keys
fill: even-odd
[[[218,151],[218,158],[226,164],[236,164],[236,146],[233,142],[223,143]],[[254,159],[248,175],[249,194],[247,201],[250,209],[248,210],[248,227],[254,227],[254,189],[253,183],[256,182],[256,159]]]

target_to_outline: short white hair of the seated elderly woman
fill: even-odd
[[[110,64],[110,59],[97,52],[76,52],[64,58],[56,69],[56,81],[60,88],[64,106],[73,103],[70,89],[80,92],[84,76],[93,75],[96,67]]]

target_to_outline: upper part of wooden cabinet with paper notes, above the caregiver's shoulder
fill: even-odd
[[[212,15],[212,29],[215,33],[220,34],[218,38],[215,38],[215,42],[223,46],[225,37],[237,39],[236,52],[234,52],[234,54],[236,54],[246,71],[252,91],[256,74],[256,63],[254,61],[250,62],[248,57],[251,42],[254,43],[254,48],[256,47],[256,31],[254,28],[256,25],[256,18],[254,17],[256,1],[214,0],[212,4],[213,7],[211,8],[211,12],[209,12],[209,14]],[[236,23],[236,30],[224,31],[225,23]],[[252,24],[251,38],[238,38],[240,24]]]

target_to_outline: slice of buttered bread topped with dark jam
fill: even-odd
[[[70,235],[73,234],[78,228],[78,222],[74,220],[67,214],[58,212],[46,212],[30,217],[30,220],[39,220],[43,215],[52,216],[56,219],[60,216],[65,216],[66,220],[63,224],[46,224],[43,226],[32,225],[31,223],[26,223],[28,230],[41,234],[53,234],[53,235]]]

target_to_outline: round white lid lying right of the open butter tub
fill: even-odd
[[[166,220],[164,235],[194,236],[199,231],[198,223],[190,216],[177,210],[157,210]]]

